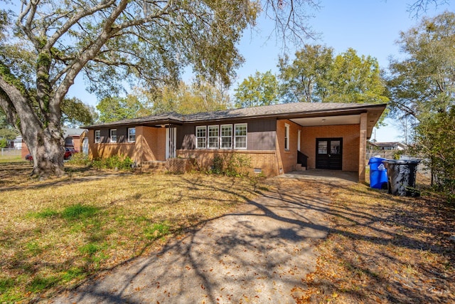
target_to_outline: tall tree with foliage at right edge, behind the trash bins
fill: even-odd
[[[400,33],[405,58],[392,60],[387,85],[392,114],[417,120],[415,147],[430,159],[435,181],[454,187],[455,14],[445,12]],[[451,195],[454,193],[451,192]]]

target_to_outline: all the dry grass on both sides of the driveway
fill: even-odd
[[[70,166],[67,176],[40,182],[30,171],[27,163],[0,164],[0,303],[50,297],[157,250],[232,211],[257,186]],[[269,180],[269,189],[277,182],[289,180]],[[419,198],[320,180],[296,182],[295,189],[331,199],[331,231],[317,245],[316,271],[302,278],[306,288],[298,288],[296,303],[455,302],[453,204],[422,187]]]

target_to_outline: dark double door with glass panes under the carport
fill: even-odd
[[[316,138],[316,169],[341,170],[343,138]]]

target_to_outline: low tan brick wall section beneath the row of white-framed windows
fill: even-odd
[[[243,154],[251,159],[249,172],[253,174],[255,169],[261,169],[266,177],[278,175],[277,153],[275,151],[251,151],[251,150],[177,150],[177,156],[183,158],[194,158],[200,169],[210,169],[215,156],[227,157],[230,154]]]

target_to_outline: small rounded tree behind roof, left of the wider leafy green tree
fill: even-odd
[[[256,71],[245,78],[234,90],[235,108],[274,105],[279,102],[279,83],[272,71]]]

